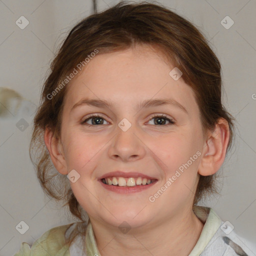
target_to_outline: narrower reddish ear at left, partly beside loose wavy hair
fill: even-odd
[[[44,143],[48,149],[52,163],[61,174],[67,174],[66,162],[63,156],[63,147],[61,141],[53,136],[48,128],[44,130]]]

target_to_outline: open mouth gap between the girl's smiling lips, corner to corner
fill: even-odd
[[[125,186],[125,187],[131,187],[131,186],[146,186],[149,184],[152,184],[157,181],[157,179],[150,179],[146,177],[118,177],[118,176],[109,176],[105,178],[100,179],[102,183],[106,185],[112,185],[112,186]]]

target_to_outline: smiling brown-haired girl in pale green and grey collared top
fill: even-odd
[[[15,255],[251,255],[196,205],[216,192],[233,120],[190,22],[146,2],[85,18],[51,63],[30,147],[42,188],[79,221]]]

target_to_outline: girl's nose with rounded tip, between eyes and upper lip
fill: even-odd
[[[126,131],[117,126],[116,135],[108,149],[108,156],[121,161],[139,160],[146,153],[145,147],[141,135],[135,129],[135,125],[131,125]]]

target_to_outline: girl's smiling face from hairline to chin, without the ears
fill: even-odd
[[[70,185],[91,220],[153,226],[191,208],[202,128],[193,91],[169,75],[173,68],[136,46],[97,54],[68,84],[61,148],[66,171],[79,174]]]

